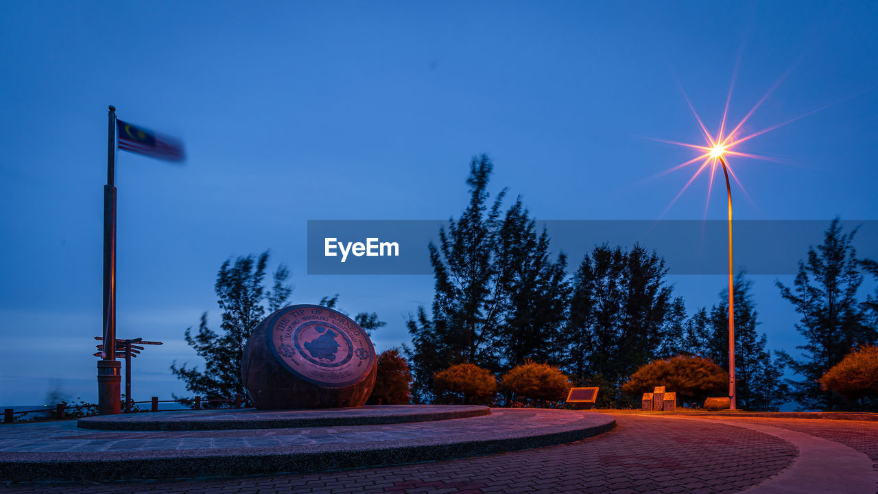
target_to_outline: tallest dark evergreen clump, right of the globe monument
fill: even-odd
[[[489,202],[493,163],[470,163],[470,202],[431,243],[435,275],[432,315],[419,308],[407,323],[412,347],[404,347],[414,373],[414,397],[424,400],[433,374],[457,363],[500,372],[524,360],[557,362],[569,291],[566,258],[551,260],[549,235],[521,198],[501,214],[505,191]]]

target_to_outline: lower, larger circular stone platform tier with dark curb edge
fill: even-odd
[[[614,418],[591,411],[489,411],[428,422],[246,430],[94,431],[76,427],[72,420],[4,425],[0,478],[107,481],[356,469],[553,446],[615,427]],[[143,415],[172,418],[173,413]],[[405,416],[402,411],[397,414]]]

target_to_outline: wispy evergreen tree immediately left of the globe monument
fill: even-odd
[[[268,262],[269,252],[265,251],[258,258],[250,255],[237,258],[234,263],[229,258],[219,267],[214,289],[222,310],[220,331],[207,327],[205,312],[198,324],[198,334],[193,336],[192,328],[184,333],[186,343],[205,360],[205,370],[185,364],[176,367],[176,361],[170,367],[171,373],[182,379],[192,393],[207,399],[246,396],[241,383],[244,345],[265,317],[265,304],[271,312],[282,309],[292,293],[292,287],[286,285],[290,272],[284,265],[274,272],[272,289],[265,289],[263,279]]]

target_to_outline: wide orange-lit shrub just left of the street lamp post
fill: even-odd
[[[678,355],[668,360],[653,360],[631,374],[622,386],[628,395],[651,393],[656,386],[677,393],[680,402],[702,402],[709,395],[722,393],[729,385],[729,374],[713,360]]]

